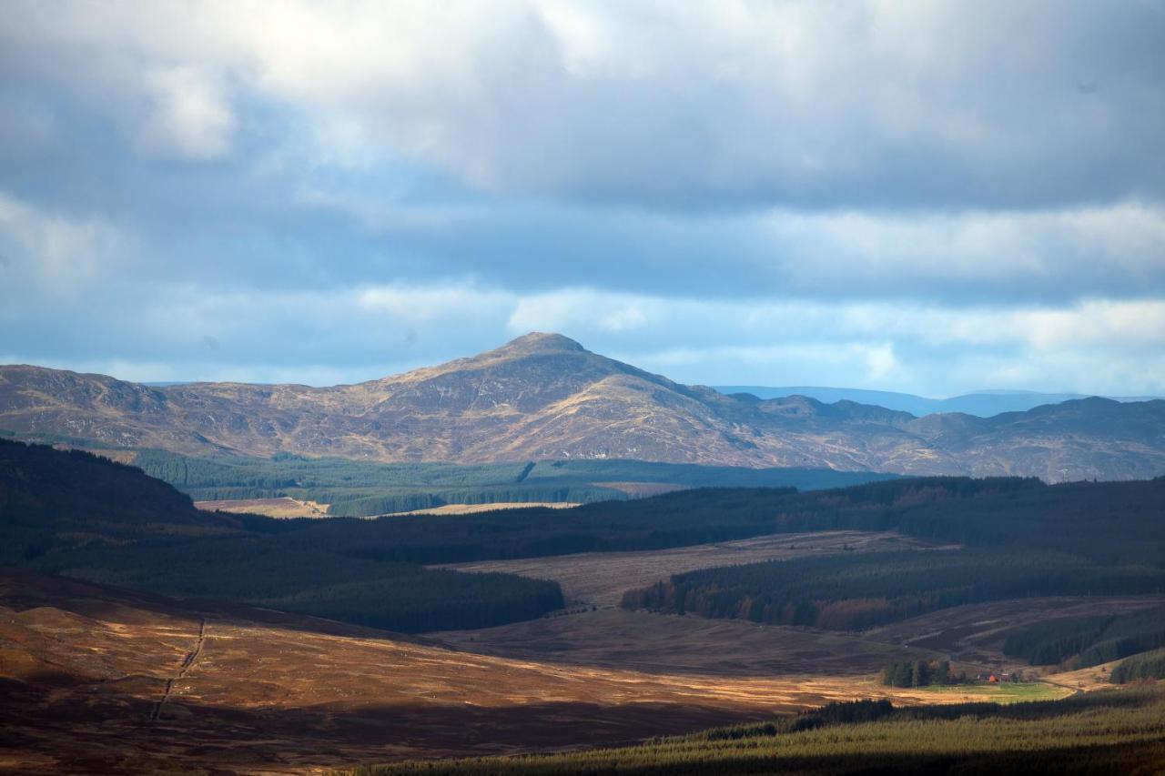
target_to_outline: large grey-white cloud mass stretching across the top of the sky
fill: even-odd
[[[42,78],[162,78],[160,120],[198,157],[231,121],[193,63],[493,193],[1047,209],[1165,186],[1157,3],[17,2],[6,19],[13,56],[89,65],[28,69]]]

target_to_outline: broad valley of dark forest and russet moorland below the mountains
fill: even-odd
[[[586,475],[610,478],[617,465]],[[1106,678],[1118,659],[1076,670],[1004,650],[1068,626],[1102,655],[1157,643],[1136,618],[1165,606],[1163,485],[891,478],[270,517],[197,509],[103,456],[0,440],[0,771],[411,768],[767,729],[824,704],[1125,692]],[[1109,627],[1124,641],[1104,642]],[[895,665],[947,679],[888,683]]]

